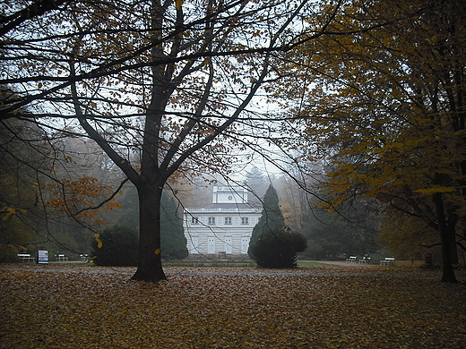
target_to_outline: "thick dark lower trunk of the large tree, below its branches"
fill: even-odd
[[[139,265],[133,280],[158,283],[167,280],[160,254],[160,200],[163,185],[138,186]]]

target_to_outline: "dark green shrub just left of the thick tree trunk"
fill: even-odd
[[[135,267],[139,259],[139,235],[127,226],[111,226],[92,240],[93,262],[98,266]]]

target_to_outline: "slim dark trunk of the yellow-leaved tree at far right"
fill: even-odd
[[[437,192],[433,195],[434,204],[436,205],[436,217],[438,220],[438,231],[440,233],[440,243],[442,246],[442,279],[445,283],[457,283],[458,280],[454,276],[453,270],[453,249],[451,233],[454,222],[448,222],[444,213],[444,201],[442,194]],[[453,234],[454,236],[454,234]],[[454,243],[454,240],[453,240]]]

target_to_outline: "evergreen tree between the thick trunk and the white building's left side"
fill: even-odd
[[[182,260],[187,257],[183,220],[177,213],[177,203],[164,192],[160,208],[160,244],[161,256],[167,260]]]

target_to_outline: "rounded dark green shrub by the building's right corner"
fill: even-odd
[[[275,230],[264,232],[251,246],[257,265],[263,268],[296,268],[296,256],[305,251],[306,239],[302,234]]]

